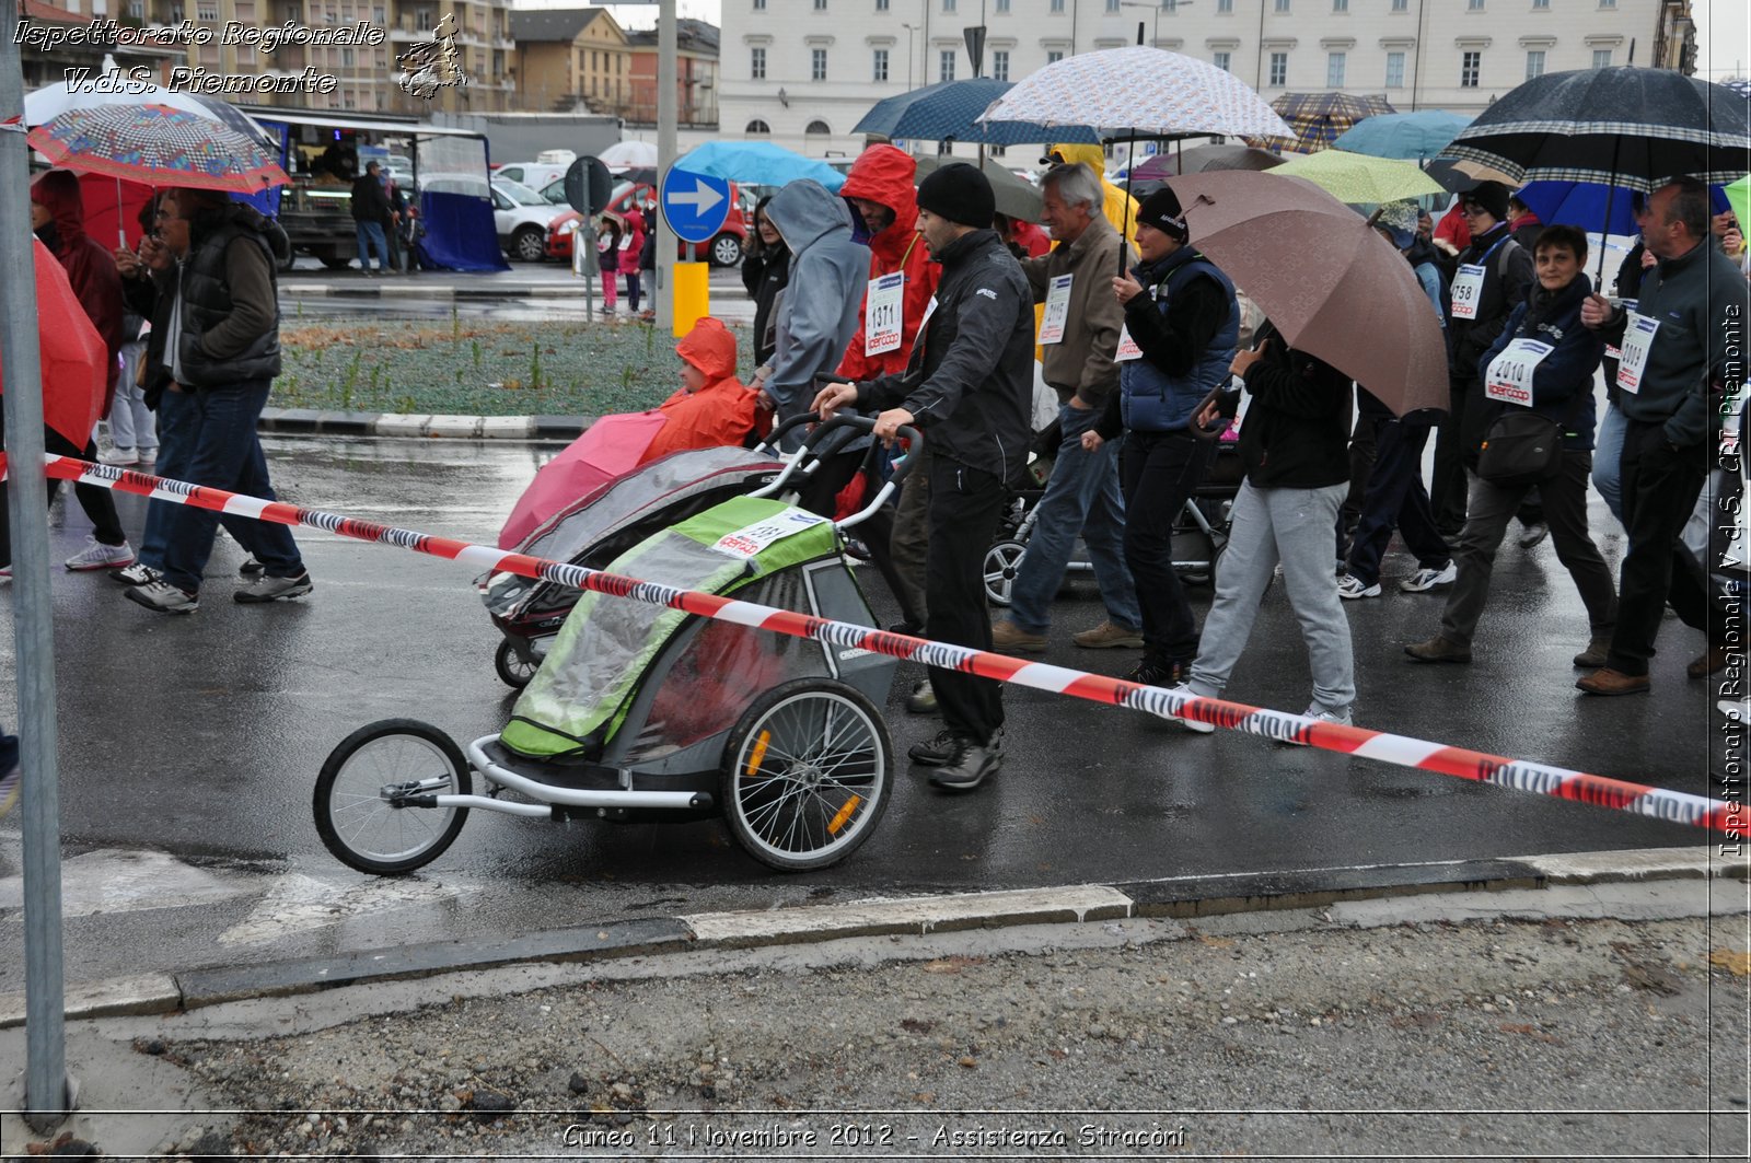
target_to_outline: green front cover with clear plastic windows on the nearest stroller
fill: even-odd
[[[608,571],[732,594],[835,552],[833,525],[825,517],[783,501],[732,497],[646,538]],[[669,606],[585,592],[511,708],[499,741],[529,758],[594,758],[620,730],[639,683],[690,617]]]

